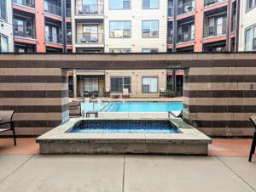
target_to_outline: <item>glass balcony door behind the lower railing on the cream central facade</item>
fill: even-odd
[[[83,41],[98,42],[98,25],[83,25]]]

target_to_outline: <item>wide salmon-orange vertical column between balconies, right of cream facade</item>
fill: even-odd
[[[204,1],[195,1],[195,52],[202,52],[202,38],[204,27]]]

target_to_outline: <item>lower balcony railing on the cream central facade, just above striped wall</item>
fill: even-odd
[[[91,32],[78,33],[77,42],[78,43],[102,43],[103,34],[91,33]]]

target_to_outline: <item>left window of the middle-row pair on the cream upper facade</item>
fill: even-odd
[[[109,21],[110,38],[130,38],[131,21]]]

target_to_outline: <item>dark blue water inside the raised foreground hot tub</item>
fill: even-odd
[[[170,121],[83,120],[69,133],[181,133]]]

